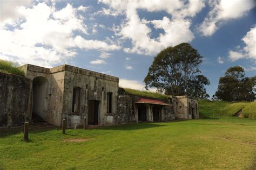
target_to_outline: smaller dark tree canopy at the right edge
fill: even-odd
[[[220,77],[219,86],[213,98],[233,102],[253,101],[252,88],[254,84],[255,77],[245,77],[244,68],[230,67],[226,70],[225,76]]]

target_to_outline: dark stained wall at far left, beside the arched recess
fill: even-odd
[[[0,126],[18,126],[30,120],[31,84],[25,77],[0,72]]]

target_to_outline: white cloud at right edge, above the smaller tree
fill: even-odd
[[[252,59],[256,61],[256,26],[251,28],[250,31],[242,38],[245,42],[245,47],[237,51],[229,51],[228,58],[231,61],[239,59]]]

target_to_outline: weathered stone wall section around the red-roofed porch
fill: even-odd
[[[147,96],[132,95],[126,93],[123,88],[119,88],[118,91],[118,117],[117,123],[129,123],[138,122],[138,105],[134,104],[140,98],[148,98],[153,100],[159,100],[158,98],[152,98]],[[160,100],[167,104],[172,104],[171,100]],[[153,104],[144,104],[147,111],[147,122],[153,122],[152,107]],[[160,121],[171,121],[175,118],[172,106],[160,106]]]

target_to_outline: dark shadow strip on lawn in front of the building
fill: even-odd
[[[159,125],[159,124],[145,122],[145,123],[122,124],[122,125],[115,125],[115,126],[99,126],[96,129],[130,131],[130,130],[157,128],[160,126],[166,126],[166,125]]]

